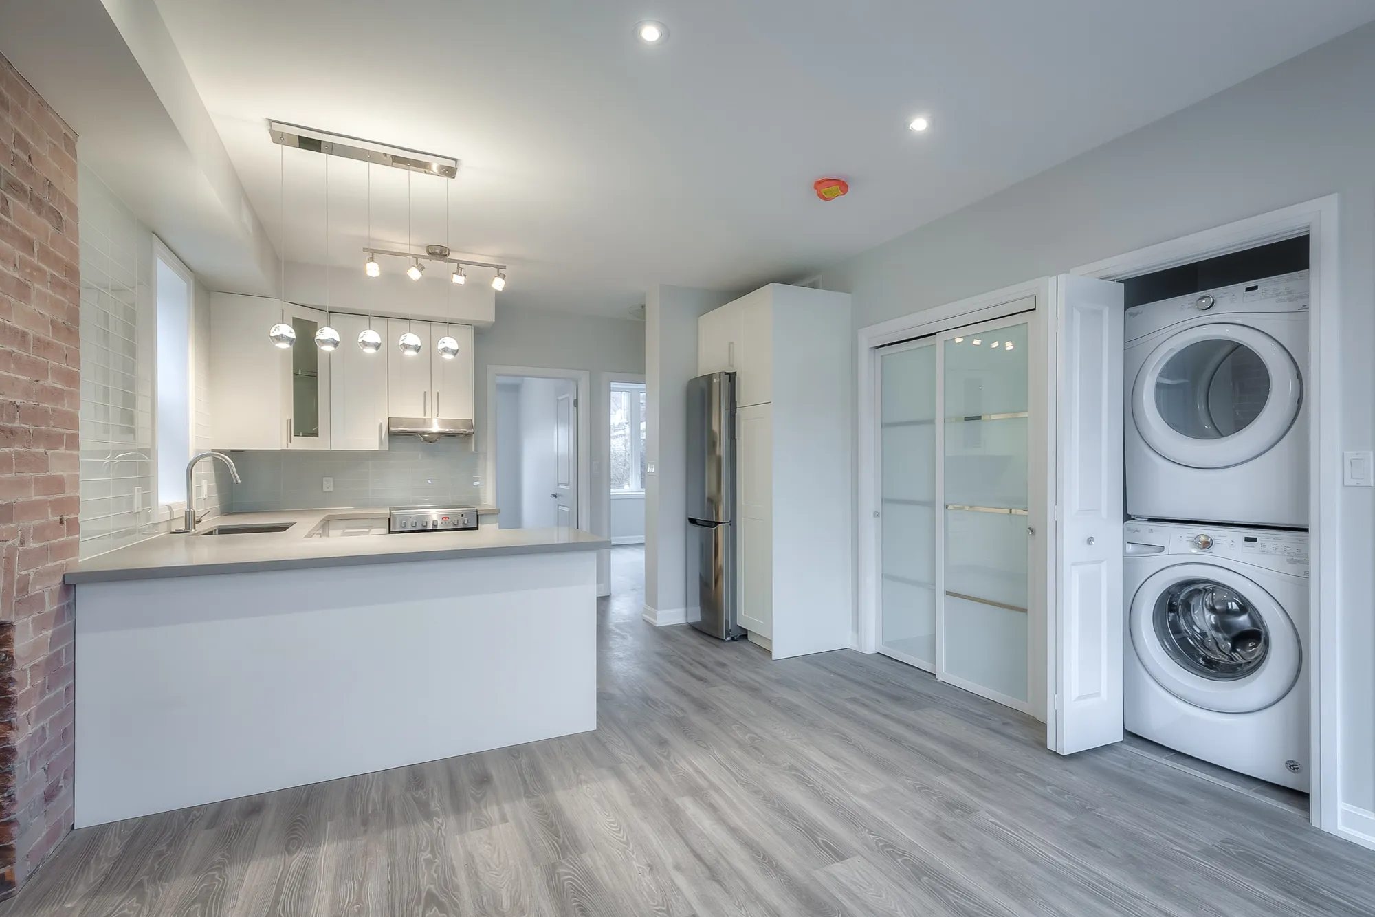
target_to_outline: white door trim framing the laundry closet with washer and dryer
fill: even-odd
[[[1309,236],[1309,584],[1312,692],[1312,760],[1309,814],[1314,826],[1375,848],[1375,839],[1342,824],[1341,793],[1341,274],[1338,269],[1338,195],[1330,194],[1270,213],[1228,223],[1180,239],[1128,252],[1074,268],[1071,274],[1121,280],[1240,252],[1266,242]],[[861,440],[862,443],[862,440]],[[1326,472],[1326,473],[1324,473]]]

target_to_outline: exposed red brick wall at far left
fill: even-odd
[[[0,896],[72,828],[77,137],[0,56]]]

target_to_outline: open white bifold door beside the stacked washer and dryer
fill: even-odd
[[[1046,744],[1122,741],[1121,283],[1060,275],[1056,305],[1055,593]]]

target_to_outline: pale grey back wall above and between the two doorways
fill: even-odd
[[[696,345],[694,345],[696,346]],[[604,392],[606,373],[645,371],[645,323],[634,319],[608,319],[573,312],[546,312],[521,309],[510,305],[496,307],[496,323],[490,329],[478,329],[473,345],[477,357],[476,399],[478,437],[487,430],[487,367],[488,366],[536,366],[540,368],[587,370],[591,373],[591,390]],[[602,401],[605,396],[593,397]],[[604,494],[608,487],[606,448],[610,440],[608,410],[597,407],[590,415],[588,469],[591,480],[588,495]],[[480,441],[478,451],[488,447]],[[495,494],[490,500],[495,502]],[[547,496],[544,499],[549,499]],[[553,500],[550,500],[553,503]],[[591,531],[606,535],[606,514],[604,502],[590,503]],[[610,582],[609,551],[600,551],[597,558],[597,580]]]

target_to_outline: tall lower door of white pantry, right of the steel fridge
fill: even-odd
[[[773,639],[773,406],[736,414],[740,626]]]

